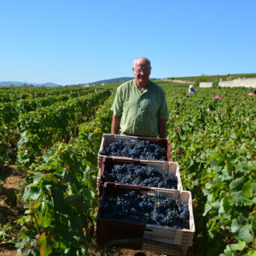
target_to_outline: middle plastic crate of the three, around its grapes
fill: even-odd
[[[102,158],[102,168],[98,170],[97,177],[97,190],[101,194],[102,186],[104,185],[103,174],[108,168],[113,168],[114,165],[134,164],[139,166],[154,167],[162,172],[169,172],[177,177],[177,190],[182,190],[182,181],[179,172],[178,162],[166,162],[166,161],[152,161],[152,160],[134,160],[125,158]]]

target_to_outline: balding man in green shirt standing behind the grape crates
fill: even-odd
[[[150,60],[134,60],[134,80],[118,87],[114,103],[111,134],[166,138],[166,93],[150,81]]]

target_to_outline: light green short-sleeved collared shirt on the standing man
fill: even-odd
[[[169,115],[165,91],[151,81],[143,92],[135,80],[122,83],[111,110],[114,115],[122,116],[121,134],[145,137],[157,137],[158,120],[167,119]]]

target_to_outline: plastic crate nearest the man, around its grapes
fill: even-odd
[[[147,138],[147,137],[136,137],[136,136],[123,136],[123,135],[116,135],[116,134],[103,134],[102,135],[102,142],[101,146],[98,151],[98,168],[102,168],[102,158],[106,157],[106,155],[103,155],[103,150],[106,146],[109,146],[111,143],[116,142],[117,139],[123,140],[123,141],[136,141],[136,140],[143,140],[143,141],[149,141],[150,143],[157,144],[158,146],[161,146],[166,150],[166,160],[167,162],[171,161],[171,155],[170,155],[170,141],[166,138]],[[116,157],[111,156],[113,158],[125,158],[125,157]],[[132,159],[132,158],[130,158]],[[144,159],[146,160],[146,159]],[[158,160],[151,160],[151,161],[158,161]]]

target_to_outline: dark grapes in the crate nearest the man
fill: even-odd
[[[166,161],[166,150],[157,144],[149,141],[123,141],[117,139],[116,142],[110,143],[103,150],[106,156],[122,156],[127,158],[141,158],[151,160]]]

